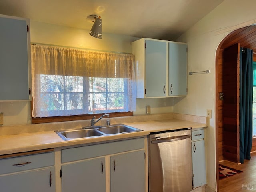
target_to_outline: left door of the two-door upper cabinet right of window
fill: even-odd
[[[146,97],[166,96],[166,42],[146,40]]]

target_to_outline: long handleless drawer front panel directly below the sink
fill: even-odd
[[[61,150],[61,162],[70,162],[144,148],[144,137]]]

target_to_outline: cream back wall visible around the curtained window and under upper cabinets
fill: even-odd
[[[131,53],[132,36],[102,34],[102,39],[89,35],[88,30],[30,21],[31,42],[93,50]],[[146,105],[151,105],[151,114],[172,112],[172,98],[138,99],[135,115],[145,114]],[[4,113],[4,126],[31,124],[30,102],[0,102]]]

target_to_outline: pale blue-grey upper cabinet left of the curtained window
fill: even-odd
[[[29,20],[0,15],[0,101],[31,100]]]

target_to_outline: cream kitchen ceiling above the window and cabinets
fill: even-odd
[[[0,0],[0,14],[88,29],[102,18],[102,32],[176,40],[224,0]]]

